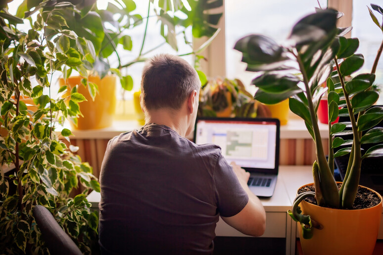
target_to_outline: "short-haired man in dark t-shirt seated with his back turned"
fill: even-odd
[[[221,149],[196,145],[200,82],[182,58],[162,54],[143,71],[145,126],[109,141],[100,173],[102,254],[211,254],[219,216],[259,236],[266,214],[249,173]]]

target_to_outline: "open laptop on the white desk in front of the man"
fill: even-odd
[[[220,146],[228,163],[234,161],[250,172],[247,185],[255,195],[271,197],[274,194],[279,168],[278,119],[197,118],[194,142]]]

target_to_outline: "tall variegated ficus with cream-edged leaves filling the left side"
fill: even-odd
[[[70,2],[30,3],[23,18],[0,6],[0,253],[49,254],[32,214],[35,205],[42,205],[90,254],[97,243],[98,215],[86,196],[90,189],[99,191],[99,183],[92,167],[74,155],[78,148],[70,145],[71,131],[62,128],[67,118],[81,115],[85,97],[74,87],[68,96],[53,98],[51,87],[54,74],[67,77],[68,67],[93,87],[87,70],[96,58],[95,45],[68,25],[71,18],[89,22],[92,14]],[[31,29],[23,32],[19,27],[26,20]],[[80,194],[73,198],[75,190]]]

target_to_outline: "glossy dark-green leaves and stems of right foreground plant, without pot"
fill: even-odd
[[[380,6],[371,4],[371,7],[383,14]],[[370,8],[369,12],[382,32],[382,24]],[[315,142],[315,193],[307,192],[298,196],[292,212],[289,212],[294,220],[301,222],[304,237],[307,238],[312,236],[311,228],[319,228],[320,224],[311,220],[309,215],[300,214],[299,202],[307,196],[315,196],[319,206],[351,209],[359,185],[361,161],[383,154],[382,144],[373,146],[363,154],[361,150],[361,144],[383,141],[383,128],[375,127],[383,120],[383,108],[373,106],[379,94],[371,89],[383,44],[372,71],[355,75],[363,66],[364,58],[362,54],[355,53],[359,40],[343,37],[351,28],[336,28],[336,20],[341,16],[342,13],[332,9],[317,9],[293,26],[283,45],[263,35],[244,37],[235,45],[235,49],[243,54],[242,61],[247,63],[247,70],[262,72],[252,80],[252,84],[258,88],[254,98],[267,104],[289,98],[290,110],[304,120]],[[316,114],[319,101],[325,93],[328,93],[329,109],[328,159]],[[348,116],[350,123],[332,125],[338,116]],[[345,130],[346,126],[351,126],[352,131]],[[335,137],[345,132],[353,134],[353,140]],[[341,145],[346,148],[334,154],[334,148]],[[338,189],[334,178],[334,158],[346,154],[350,154],[349,164]]]

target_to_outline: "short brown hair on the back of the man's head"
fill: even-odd
[[[147,110],[178,110],[189,94],[199,91],[197,72],[179,56],[160,54],[147,60],[141,81],[141,94]]]

